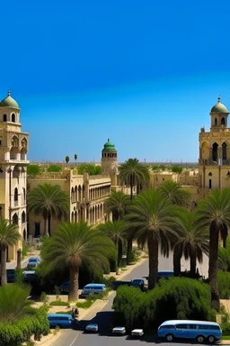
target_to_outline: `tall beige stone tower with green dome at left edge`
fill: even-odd
[[[8,91],[0,103],[0,214],[16,223],[27,239],[26,167],[29,134],[21,131],[20,107]],[[22,241],[9,247],[7,259],[16,259]]]

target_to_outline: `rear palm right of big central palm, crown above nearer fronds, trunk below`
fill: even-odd
[[[190,203],[189,191],[181,188],[181,185],[173,180],[165,181],[158,189],[164,197],[169,198],[172,205],[186,206]],[[181,249],[173,244],[173,271],[175,276],[181,274],[181,257]]]

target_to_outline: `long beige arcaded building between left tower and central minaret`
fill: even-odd
[[[91,225],[104,223],[104,202],[111,195],[111,178],[104,173],[98,176],[78,175],[77,169],[65,169],[58,173],[42,173],[36,178],[28,178],[28,188],[42,184],[59,185],[69,196],[69,215],[67,222],[84,221]],[[62,220],[63,221],[63,220]],[[60,223],[51,219],[51,234]],[[45,224],[42,216],[29,215],[29,233],[31,236],[44,234]]]

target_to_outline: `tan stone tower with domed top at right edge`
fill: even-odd
[[[210,131],[199,132],[199,197],[213,188],[230,187],[230,128],[228,110],[220,102],[210,111]]]

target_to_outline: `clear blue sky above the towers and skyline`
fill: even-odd
[[[0,98],[31,160],[196,161],[217,96],[230,108],[229,0],[1,4]]]

